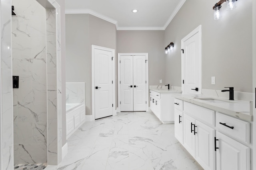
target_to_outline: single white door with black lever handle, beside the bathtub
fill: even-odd
[[[113,115],[112,52],[94,49],[95,119]]]

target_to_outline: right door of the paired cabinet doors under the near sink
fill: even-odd
[[[196,160],[204,170],[214,170],[214,129],[196,120]]]

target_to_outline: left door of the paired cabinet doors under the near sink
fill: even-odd
[[[195,157],[196,152],[196,135],[194,134],[195,119],[183,113],[183,145],[188,152]]]

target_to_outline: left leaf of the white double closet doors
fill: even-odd
[[[121,111],[133,111],[133,57],[120,57]]]

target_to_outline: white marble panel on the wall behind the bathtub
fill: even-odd
[[[84,82],[68,82],[66,83],[66,103],[85,104],[85,83]]]

